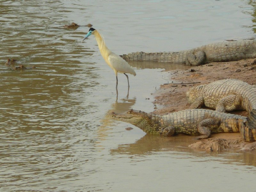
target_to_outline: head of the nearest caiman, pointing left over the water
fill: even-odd
[[[113,119],[119,120],[119,121],[124,121],[133,125],[137,125],[141,123],[145,118],[145,115],[147,113],[143,111],[138,111],[138,110],[129,110],[127,112],[117,114],[115,112],[111,112],[110,116]]]

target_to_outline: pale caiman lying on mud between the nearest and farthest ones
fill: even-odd
[[[240,131],[244,140],[256,141],[256,86],[237,79],[224,79],[206,85],[192,87],[187,91],[190,109],[206,106],[220,112],[246,110],[249,135]],[[253,133],[254,132],[254,135]],[[245,134],[245,135],[244,135]]]

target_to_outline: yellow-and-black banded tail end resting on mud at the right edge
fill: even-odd
[[[246,122],[239,124],[239,132],[242,135],[242,138],[246,142],[256,141],[256,128],[248,127],[248,118]]]

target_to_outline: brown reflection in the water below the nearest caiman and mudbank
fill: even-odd
[[[237,165],[256,166],[255,152],[242,151],[222,151],[222,152],[196,152],[188,149],[188,145],[195,142],[195,136],[180,134],[174,137],[163,137],[161,135],[144,135],[142,138],[131,144],[122,144],[115,149],[111,149],[112,155],[149,155],[157,152],[172,152],[177,154],[190,154],[198,158],[208,158],[209,160],[220,161],[224,164],[235,163]],[[202,160],[199,160],[200,162]]]

